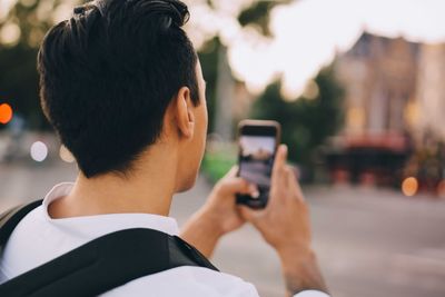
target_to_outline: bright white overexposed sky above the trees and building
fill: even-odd
[[[0,19],[16,1],[0,0]],[[68,3],[73,1],[63,1],[53,10],[55,21],[69,17]],[[187,32],[196,47],[219,34],[238,80],[259,93],[281,77],[281,92],[289,100],[297,98],[336,53],[348,50],[364,30],[415,42],[445,42],[445,0],[295,0],[271,10],[273,38],[237,21],[239,12],[256,0],[214,0],[214,8],[206,0],[185,2],[191,12]],[[12,32],[13,26],[10,29]]]

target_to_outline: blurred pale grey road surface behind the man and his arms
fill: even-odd
[[[56,161],[0,164],[0,209],[42,197],[75,176],[73,165]],[[199,178],[192,190],[175,197],[171,216],[184,224],[209,190]],[[346,186],[304,190],[314,248],[333,296],[445,296],[445,201]],[[249,226],[222,238],[212,261],[254,283],[260,296],[284,296],[278,258]]]

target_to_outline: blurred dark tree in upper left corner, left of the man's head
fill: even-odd
[[[36,57],[44,33],[55,22],[53,12],[66,2],[18,1],[0,20],[1,31],[9,30],[18,37],[0,39],[0,102],[10,103],[31,129],[49,129],[39,103]]]

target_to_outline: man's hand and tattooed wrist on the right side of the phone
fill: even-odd
[[[308,208],[286,159],[287,147],[281,145],[275,158],[266,208],[255,210],[240,206],[240,212],[277,250],[289,296],[304,289],[326,291],[312,250]]]

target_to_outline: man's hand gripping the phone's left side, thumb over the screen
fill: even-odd
[[[257,187],[236,177],[237,168],[214,187],[206,204],[186,222],[181,237],[210,257],[218,239],[245,222],[236,206],[236,194],[258,195]]]

